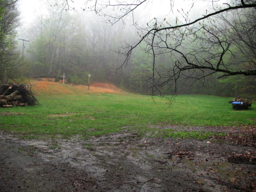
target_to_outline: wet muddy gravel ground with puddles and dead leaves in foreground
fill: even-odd
[[[256,191],[256,128],[163,128],[228,135],[22,140],[0,131],[0,191]]]

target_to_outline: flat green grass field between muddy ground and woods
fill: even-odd
[[[154,102],[151,96],[130,93],[41,96],[38,98],[40,105],[37,106],[1,108],[0,127],[1,130],[28,138],[56,135],[65,138],[77,134],[88,137],[121,130],[137,131],[143,135],[160,129],[157,125],[255,125],[254,105],[250,110],[236,110],[228,104],[231,99],[180,95],[169,107],[167,100],[158,96],[154,97]],[[198,133],[192,134],[197,137]],[[179,133],[169,133],[169,136],[182,137]]]

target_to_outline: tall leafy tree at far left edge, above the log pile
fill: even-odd
[[[18,74],[21,63],[15,40],[20,12],[17,0],[0,1],[0,7],[0,82],[6,83]]]

